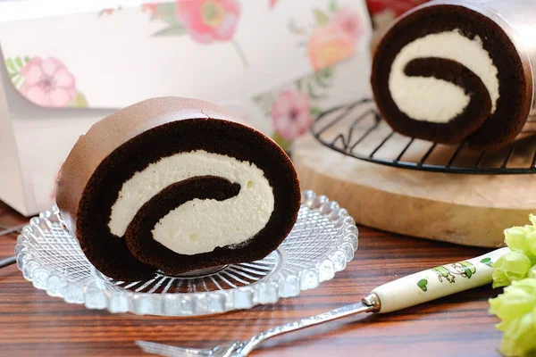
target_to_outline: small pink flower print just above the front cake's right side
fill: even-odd
[[[311,99],[295,89],[282,90],[272,105],[272,121],[277,132],[287,140],[305,134],[313,123]]]

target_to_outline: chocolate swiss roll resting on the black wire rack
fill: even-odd
[[[534,45],[521,32],[536,29],[529,19],[532,0],[432,1],[406,12],[373,59],[382,116],[408,137],[485,150],[511,143],[534,101]]]

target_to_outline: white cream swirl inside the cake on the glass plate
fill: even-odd
[[[206,253],[217,246],[242,243],[264,228],[274,205],[264,171],[254,163],[199,150],[162,158],[126,181],[112,207],[110,231],[123,236],[136,212],[163,188],[206,175],[238,183],[239,195],[221,202],[195,199],[180,205],[155,225],[152,233],[157,242],[180,254]]]

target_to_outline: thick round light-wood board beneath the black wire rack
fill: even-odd
[[[301,137],[292,150],[302,189],[348,209],[357,223],[460,245],[504,245],[503,231],[536,214],[536,175],[461,175],[364,162]]]

